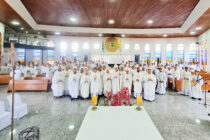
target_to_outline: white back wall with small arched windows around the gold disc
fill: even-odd
[[[183,44],[185,49],[185,61],[189,61],[189,46],[192,43],[196,43],[198,41],[198,38],[196,37],[189,37],[189,38],[120,38],[122,48],[121,51],[117,51],[115,53],[109,53],[109,52],[102,52],[101,46],[102,42],[105,42],[106,38],[103,37],[68,37],[68,36],[48,36],[49,40],[54,41],[55,43],[55,59],[58,60],[60,57],[60,49],[59,46],[61,42],[67,43],[67,58],[71,58],[73,56],[72,52],[72,43],[77,42],[79,44],[79,52],[77,53],[78,56],[84,57],[85,54],[87,54],[90,58],[93,54],[126,54],[126,55],[135,55],[139,54],[142,58],[144,58],[144,46],[145,44],[150,44],[151,47],[151,57],[155,58],[155,45],[160,44],[161,47],[161,55],[162,55],[162,62],[165,63],[166,59],[166,46],[167,44],[171,44],[173,48],[173,60],[176,60],[176,54],[177,54],[177,46],[178,44]],[[85,42],[88,42],[90,45],[89,50],[83,49],[83,44]],[[98,43],[100,44],[100,49],[95,50],[94,44]],[[135,50],[134,45],[138,43],[140,44],[140,50]],[[129,50],[125,50],[123,47],[125,44],[130,45]]]

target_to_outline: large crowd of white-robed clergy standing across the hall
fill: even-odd
[[[198,64],[157,64],[122,62],[111,68],[104,62],[93,61],[67,61],[53,64],[28,63],[16,64],[15,80],[24,77],[33,77],[41,74],[52,79],[52,91],[55,98],[69,96],[74,99],[87,99],[91,96],[106,96],[112,92],[117,94],[127,87],[130,95],[142,96],[145,100],[154,101],[155,94],[164,95],[168,85],[168,79],[172,79],[173,88],[175,80],[183,79],[181,94],[193,99],[202,98],[202,77],[198,75]],[[191,72],[194,72],[192,75]],[[1,67],[1,74],[12,76],[11,63]],[[197,84],[191,85],[195,80]]]

